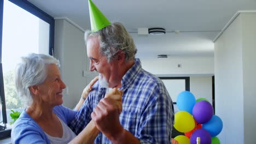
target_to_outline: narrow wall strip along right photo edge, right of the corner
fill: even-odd
[[[245,143],[256,143],[256,13],[242,13],[243,112]]]

